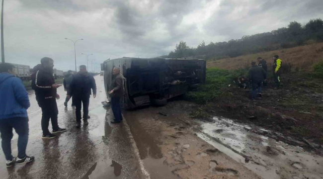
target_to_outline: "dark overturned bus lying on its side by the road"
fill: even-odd
[[[183,95],[205,83],[206,61],[202,59],[129,58],[106,60],[104,87],[107,97],[112,70],[120,68],[124,76],[123,106],[133,109],[143,105],[165,105],[167,99]]]

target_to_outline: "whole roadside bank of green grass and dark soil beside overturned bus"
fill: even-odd
[[[323,60],[313,69],[313,72],[293,70],[282,74],[282,88],[278,90],[273,90],[274,82],[268,72],[268,87],[263,89],[262,99],[256,101],[250,100],[251,89],[239,89],[233,83],[241,74],[247,74],[246,69],[207,69],[206,84],[187,93],[188,100],[201,104],[191,115],[206,120],[211,116],[239,119],[285,137],[323,144]]]

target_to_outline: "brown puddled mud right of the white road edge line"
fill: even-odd
[[[273,131],[223,117],[190,117],[197,105],[126,111],[140,157],[156,179],[322,179],[323,157],[262,134]],[[140,141],[140,142],[139,142]],[[171,171],[177,177],[164,175]]]

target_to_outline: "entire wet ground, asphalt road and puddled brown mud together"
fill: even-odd
[[[64,106],[59,89],[59,125],[55,139],[41,139],[41,110],[29,94],[27,155],[35,161],[6,169],[3,179],[321,179],[323,159],[270,139],[271,131],[215,116],[210,122],[190,117],[197,105],[169,101],[163,107],[124,111],[124,122],[111,124],[103,78],[95,77],[97,97],[90,98],[89,125],[75,128],[75,109]],[[70,103],[69,103],[70,105]],[[51,126],[49,127],[51,128]],[[17,135],[12,152],[17,154]]]

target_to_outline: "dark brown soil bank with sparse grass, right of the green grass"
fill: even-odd
[[[283,87],[274,90],[271,81],[263,97],[252,101],[251,89],[235,85],[222,89],[227,95],[201,105],[193,113],[205,120],[224,116],[274,131],[258,131],[277,141],[323,151],[323,80],[297,73],[282,75]]]

